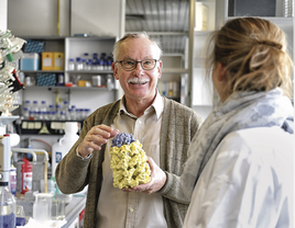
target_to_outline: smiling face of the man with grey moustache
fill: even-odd
[[[144,37],[127,38],[120,45],[118,61],[145,59],[159,60],[159,48]],[[155,96],[157,80],[162,73],[162,61],[156,61],[152,70],[144,70],[140,62],[132,71],[125,71],[120,64],[116,64],[114,78],[120,81],[125,99],[151,102]]]

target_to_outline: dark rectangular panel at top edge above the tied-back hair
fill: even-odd
[[[229,0],[229,16],[275,16],[276,0]]]

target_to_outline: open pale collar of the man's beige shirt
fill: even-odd
[[[122,96],[122,99],[120,100],[120,109],[119,109],[119,115],[121,114],[127,114],[131,117],[135,117],[138,118],[136,116],[134,116],[132,113],[129,113],[127,112],[127,109],[125,109],[125,98],[124,95]],[[145,111],[144,111],[144,114],[149,113],[152,111],[152,107],[153,110],[155,111],[155,114],[156,114],[156,117],[160,118],[163,111],[164,111],[164,98],[160,94],[159,90],[156,89],[156,95],[155,95],[155,100],[154,102],[151,104],[151,106],[149,106]]]

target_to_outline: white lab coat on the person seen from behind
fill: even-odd
[[[227,135],[195,186],[184,228],[293,228],[294,135]]]

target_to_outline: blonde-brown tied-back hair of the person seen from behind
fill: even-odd
[[[207,45],[207,77],[220,62],[228,81],[225,91],[269,91],[282,88],[292,96],[293,62],[286,37],[275,24],[259,18],[228,21],[211,34]]]

